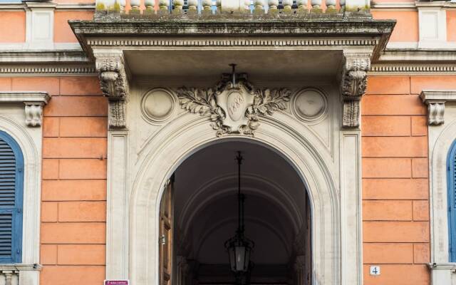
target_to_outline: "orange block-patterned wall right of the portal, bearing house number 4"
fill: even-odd
[[[456,88],[456,76],[368,79],[362,100],[365,285],[430,284],[427,110],[418,95],[445,88]],[[380,264],[380,276],[369,274],[371,264]]]

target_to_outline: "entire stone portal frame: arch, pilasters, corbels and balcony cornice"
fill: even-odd
[[[368,15],[280,21],[248,17],[70,21],[81,46],[95,60],[100,85],[110,100],[107,279],[158,285],[157,214],[165,182],[193,152],[231,139],[266,145],[301,175],[313,213],[314,284],[361,285],[360,102],[371,61],[385,48],[394,24]],[[336,88],[330,98],[334,107],[328,128],[331,150],[323,149],[311,128],[286,113],[288,110],[261,116],[254,138],[231,133],[217,138],[209,118],[177,111],[166,123],[155,125],[153,134],[145,138],[152,125],[141,126],[140,118],[135,117],[142,93],[135,86],[140,85],[135,82],[135,66],[129,66],[125,55],[135,51],[165,51],[172,56],[175,51],[246,49],[340,52],[332,61],[330,84]],[[334,76],[336,71],[338,76]],[[156,74],[148,76],[147,81],[153,81]],[[170,88],[162,85],[153,87]],[[145,139],[140,147],[138,133]]]

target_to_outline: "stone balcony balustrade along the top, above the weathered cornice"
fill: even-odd
[[[347,4],[346,4],[347,3]],[[120,14],[343,14],[368,11],[369,0],[96,0],[97,11]]]

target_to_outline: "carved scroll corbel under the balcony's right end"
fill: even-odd
[[[344,58],[341,80],[343,128],[358,128],[360,125],[361,98],[366,93],[370,67],[370,56],[350,55]]]

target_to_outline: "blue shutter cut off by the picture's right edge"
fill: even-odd
[[[448,177],[448,231],[450,232],[450,262],[456,262],[456,141],[447,158]]]

